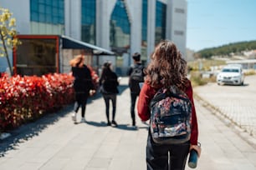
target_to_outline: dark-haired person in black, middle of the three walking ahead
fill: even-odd
[[[100,76],[100,92],[105,101],[105,114],[107,125],[117,127],[115,122],[116,95],[119,92],[119,82],[115,72],[111,70],[111,62],[105,62]],[[110,122],[110,101],[112,102],[112,121]]]

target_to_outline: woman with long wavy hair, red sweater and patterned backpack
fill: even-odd
[[[200,157],[192,92],[192,84],[187,79],[187,62],[182,54],[173,42],[160,42],[146,67],[145,83],[137,104],[141,120],[150,119],[147,169],[184,170],[192,149]]]

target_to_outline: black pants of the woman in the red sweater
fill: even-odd
[[[184,170],[187,162],[190,143],[157,145],[148,135],[146,145],[147,170]],[[168,158],[170,154],[170,160]],[[168,166],[169,164],[169,166]]]

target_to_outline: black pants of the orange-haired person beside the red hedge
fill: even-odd
[[[75,92],[74,112],[78,112],[79,107],[82,107],[81,115],[84,117],[85,107],[87,103],[88,92]]]

